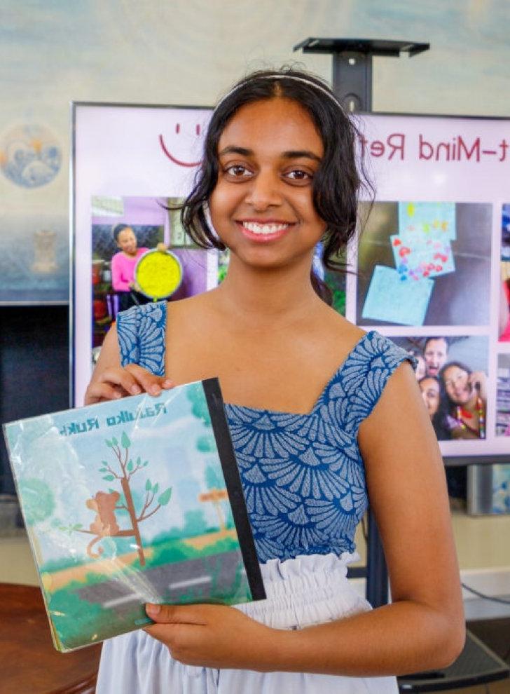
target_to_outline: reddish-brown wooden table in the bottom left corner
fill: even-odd
[[[0,583],[2,694],[93,694],[100,653],[55,651],[39,587]]]

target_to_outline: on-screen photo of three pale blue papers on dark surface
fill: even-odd
[[[381,200],[362,214],[357,325],[488,325],[492,204]]]

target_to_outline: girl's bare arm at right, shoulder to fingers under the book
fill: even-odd
[[[409,365],[388,381],[359,444],[392,604],[300,631],[228,607],[162,606],[147,631],[190,665],[366,676],[453,662],[464,615],[443,461]]]

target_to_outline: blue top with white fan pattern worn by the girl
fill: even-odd
[[[166,301],[118,314],[123,366],[165,369]],[[357,433],[403,349],[375,331],[338,367],[309,414],[225,404],[260,562],[354,552],[368,506]]]

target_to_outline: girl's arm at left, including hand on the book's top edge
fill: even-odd
[[[109,329],[99,353],[92,379],[85,391],[85,405],[105,400],[117,400],[127,395],[160,395],[161,389],[172,388],[165,376],[155,376],[136,364],[120,366],[116,325]]]

